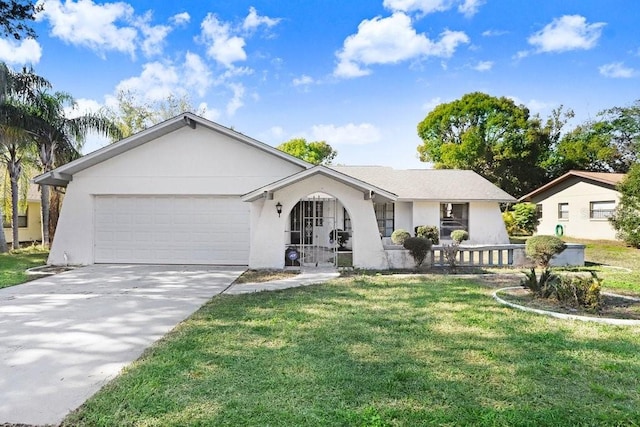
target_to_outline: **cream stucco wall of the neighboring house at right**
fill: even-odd
[[[565,236],[582,239],[615,240],[616,233],[607,219],[589,217],[590,202],[620,200],[620,193],[578,178],[570,178],[564,183],[546,191],[532,202],[542,205],[542,219],[537,234],[555,234],[556,226],[562,225]],[[558,218],[558,204],[569,204],[569,218]]]

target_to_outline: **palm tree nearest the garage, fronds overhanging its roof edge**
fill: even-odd
[[[40,120],[37,127],[31,129],[38,147],[38,163],[41,173],[47,173],[55,167],[80,156],[80,149],[89,132],[105,135],[112,139],[120,138],[119,129],[100,114],[85,114],[69,118],[66,108],[75,106],[73,97],[65,92],[50,93],[40,91],[33,104],[31,114]],[[47,185],[40,188],[42,202],[42,244],[50,243],[49,213],[50,192]]]

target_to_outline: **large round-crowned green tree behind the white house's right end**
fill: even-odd
[[[418,124],[420,160],[471,169],[519,197],[546,181],[550,126],[513,100],[474,92],[437,106]]]

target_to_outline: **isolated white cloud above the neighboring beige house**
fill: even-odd
[[[537,52],[588,50],[598,43],[605,25],[604,22],[588,24],[580,15],[564,15],[530,36],[528,41]]]

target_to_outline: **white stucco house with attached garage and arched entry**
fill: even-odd
[[[396,228],[508,243],[499,203],[515,201],[470,171],[314,166],[190,113],[35,182],[66,186],[50,264],[282,268],[295,249],[319,266],[346,230],[355,267],[386,269],[381,237]]]

